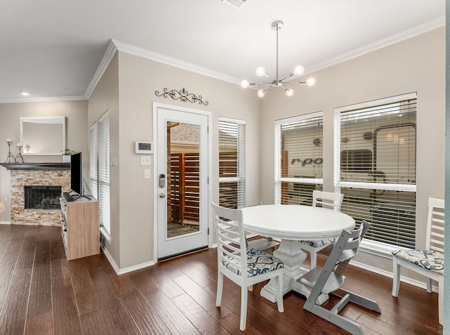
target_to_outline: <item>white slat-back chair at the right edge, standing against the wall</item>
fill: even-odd
[[[400,266],[427,277],[427,291],[432,292],[431,280],[437,281],[439,324],[444,322],[444,200],[428,199],[428,220],[425,249],[392,251],[392,296],[399,296]]]

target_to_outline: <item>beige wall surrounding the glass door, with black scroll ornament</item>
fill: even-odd
[[[116,72],[117,71],[117,72]],[[118,86],[116,85],[118,83]],[[109,87],[109,88],[108,88]],[[207,106],[158,97],[155,91],[172,88],[203,96]],[[118,99],[113,96],[118,90]],[[245,119],[247,140],[247,194],[251,204],[261,200],[259,192],[260,102],[253,91],[218,79],[181,70],[146,58],[118,52],[89,99],[89,124],[110,109],[111,243],[106,248],[118,268],[127,270],[151,263],[154,247],[153,179],[143,179],[144,166],[134,153],[136,140],[153,140],[153,103],[189,107],[212,113],[212,201],[218,201],[219,117]],[[117,104],[118,103],[118,108]],[[98,107],[97,107],[98,106]],[[100,107],[101,106],[101,107]],[[154,159],[152,157],[152,163]],[[148,167],[147,167],[148,168]],[[150,166],[155,169],[155,166]]]

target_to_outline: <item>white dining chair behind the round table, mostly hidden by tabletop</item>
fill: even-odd
[[[312,206],[323,207],[340,211],[342,206],[342,199],[344,195],[342,193],[323,192],[314,190],[312,192]],[[319,239],[315,241],[300,241],[300,248],[304,251],[308,251],[311,258],[311,269],[317,265],[317,252],[321,249],[328,247],[333,243],[333,239]]]

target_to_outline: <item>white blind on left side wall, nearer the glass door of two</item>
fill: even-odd
[[[111,233],[110,224],[110,120],[106,112],[98,120],[100,147],[98,148],[98,200],[100,202],[100,224]]]

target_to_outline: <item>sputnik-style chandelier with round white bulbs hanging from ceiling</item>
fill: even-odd
[[[292,77],[295,76],[300,76],[303,74],[304,68],[302,67],[302,65],[297,65],[296,67],[294,67],[293,72],[290,72],[290,74],[288,74],[286,77],[283,77],[283,79],[278,79],[278,31],[283,27],[283,21],[274,21],[271,24],[272,30],[276,30],[276,77],[275,79],[271,78],[269,76],[269,74],[267,74],[266,70],[264,70],[264,67],[258,67],[256,69],[256,75],[258,77],[266,77],[267,79],[271,80],[268,82],[264,82],[264,83],[253,83],[250,82],[248,80],[243,80],[240,82],[240,86],[242,88],[248,88],[248,86],[250,85],[269,85],[266,86],[266,88],[262,88],[258,91],[258,96],[259,98],[262,98],[263,96],[266,95],[267,93],[267,89],[271,88],[271,87],[281,87],[283,88],[283,90],[286,93],[286,96],[293,96],[294,91],[292,88],[285,88],[283,86],[283,84],[290,84],[286,81],[288,81],[288,79],[291,79]],[[316,79],[314,78],[309,78],[307,79],[307,81],[299,81],[299,84],[307,84],[308,86],[314,86],[314,84],[316,84]]]

